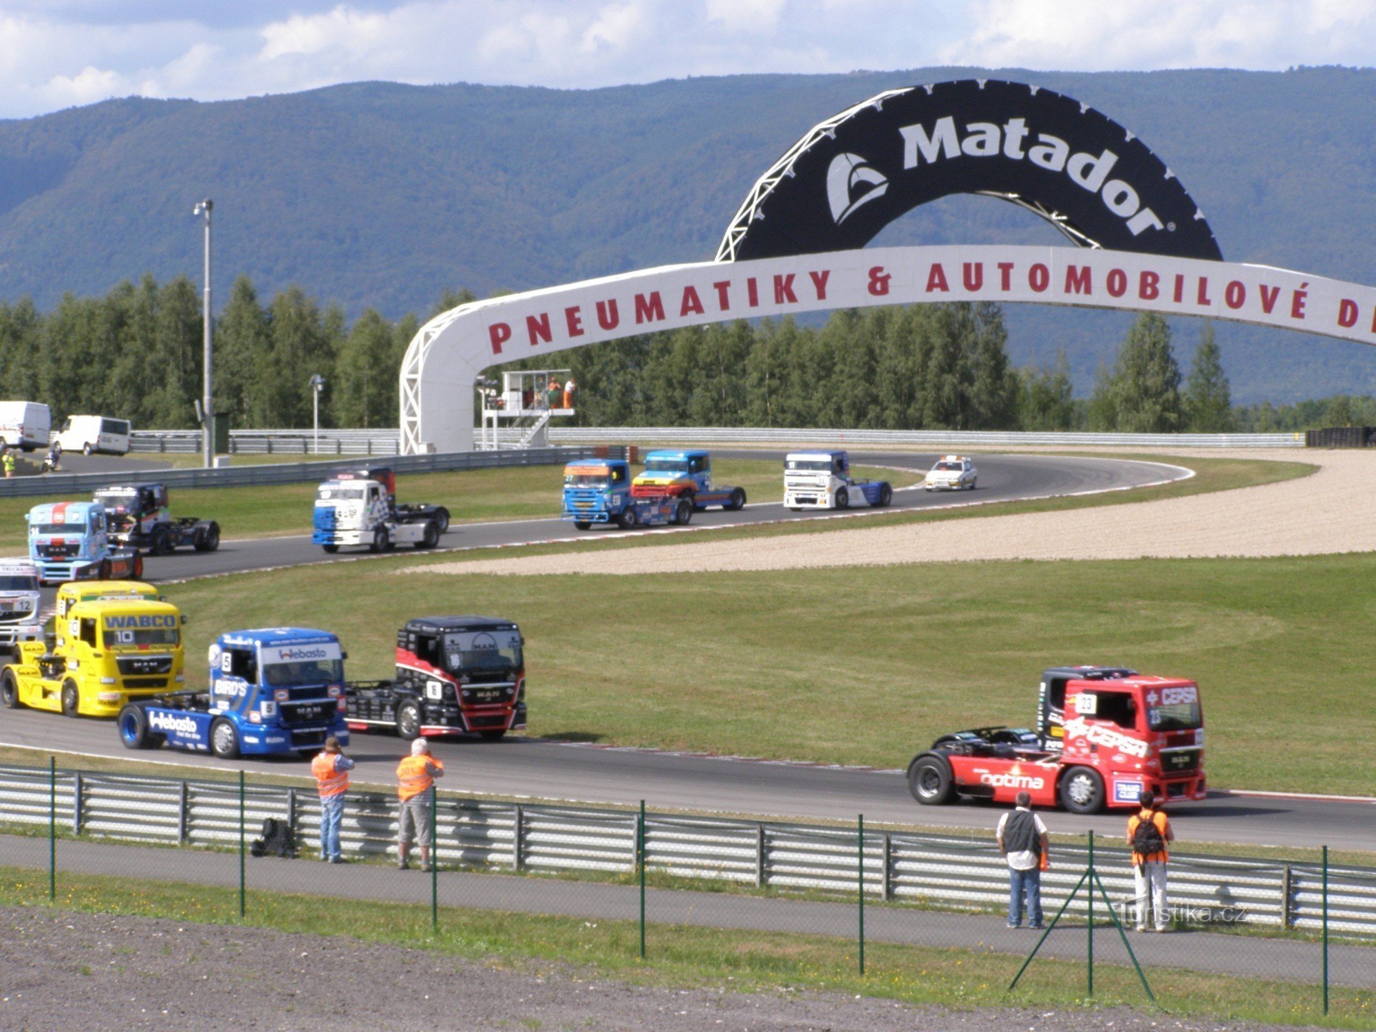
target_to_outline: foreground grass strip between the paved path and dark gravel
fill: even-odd
[[[0,905],[48,907],[45,872],[0,868]],[[643,985],[738,992],[779,988],[845,992],[960,1009],[1146,1006],[1132,969],[1105,963],[1095,966],[1093,1000],[1083,995],[1084,965],[1066,960],[1035,962],[1017,992],[1009,993],[1006,988],[1022,958],[987,949],[871,941],[866,944],[866,974],[860,976],[853,940],[649,925],[648,960],[640,960],[638,927],[629,921],[446,907],[439,912],[439,932],[433,932],[429,908],[424,905],[250,890],[248,916],[241,922],[235,889],[72,874],[59,875],[55,914],[62,911],[350,936],[479,963],[515,965],[531,977],[561,980],[616,978]],[[1113,936],[1112,927],[1105,927],[1102,934]],[[1032,941],[1028,938],[1028,948]],[[1313,982],[1260,981],[1178,969],[1152,969],[1148,974],[1157,1000],[1172,1014],[1370,1028],[1376,1013],[1376,992],[1372,991],[1335,988],[1332,1017],[1325,1021],[1320,989]]]

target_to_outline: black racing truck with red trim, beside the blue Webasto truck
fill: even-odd
[[[403,739],[471,732],[495,740],[526,727],[520,627],[491,616],[421,616],[396,633],[391,681],[344,685],[352,731]]]

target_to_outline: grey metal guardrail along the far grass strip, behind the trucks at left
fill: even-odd
[[[495,466],[559,465],[571,458],[590,455],[589,447],[549,447],[513,451],[449,451],[435,455],[387,455],[387,465],[398,473],[439,473],[454,469],[491,469]],[[44,473],[0,479],[0,498],[61,494],[69,498],[89,497],[98,487],[157,480],[168,487],[246,487],[255,484],[299,484],[327,480],[333,473],[356,469],[358,460],[337,462],[274,462],[268,465],[224,466],[220,469],[157,469],[122,473]]]

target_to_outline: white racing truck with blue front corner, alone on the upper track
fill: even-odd
[[[336,473],[315,491],[311,541],[329,553],[340,545],[366,545],[372,552],[435,548],[446,530],[443,505],[396,504],[396,477],[387,468]]]

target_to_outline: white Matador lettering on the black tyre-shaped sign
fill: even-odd
[[[1112,150],[1101,154],[1071,153],[1071,144],[1049,132],[1036,133],[1036,143],[1024,149],[1032,135],[1025,118],[1009,118],[1003,125],[995,122],[969,122],[965,136],[956,131],[955,118],[938,118],[929,133],[925,125],[904,125],[903,168],[918,168],[926,161],[934,165],[940,160],[959,158],[967,154],[973,158],[992,158],[1002,154],[1013,161],[1031,161],[1049,172],[1064,172],[1082,190],[1098,194],[1104,206],[1113,215],[1127,220],[1127,228],[1134,237],[1143,230],[1165,228],[1156,212],[1142,206],[1142,198],[1131,184],[1121,179],[1109,179],[1119,155]]]

